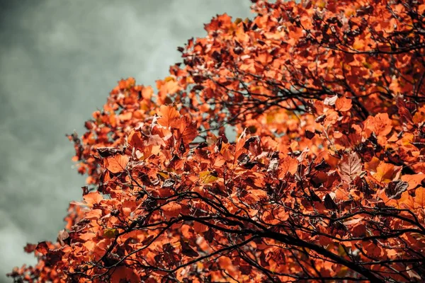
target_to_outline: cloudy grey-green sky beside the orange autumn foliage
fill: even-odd
[[[0,282],[34,264],[23,246],[54,241],[85,177],[65,134],[84,131],[116,83],[154,85],[176,47],[249,0],[0,0]]]

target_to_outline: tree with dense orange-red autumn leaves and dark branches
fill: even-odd
[[[9,276],[425,280],[424,1],[253,2],[69,136],[84,201]]]

